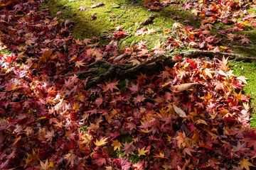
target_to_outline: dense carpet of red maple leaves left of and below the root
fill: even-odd
[[[76,40],[65,21],[39,12],[40,3],[16,1],[0,11],[0,45],[13,52],[0,54],[0,169],[254,166],[246,79],[232,74],[227,59],[177,56],[174,67],[142,73],[127,89],[116,79],[87,89],[89,78],[67,75],[114,60],[117,41],[99,47],[97,38]],[[116,31],[114,38],[126,34]],[[150,55],[144,42],[124,53],[131,59],[119,62]],[[127,136],[132,141],[123,142]],[[132,155],[140,160],[131,162]]]

